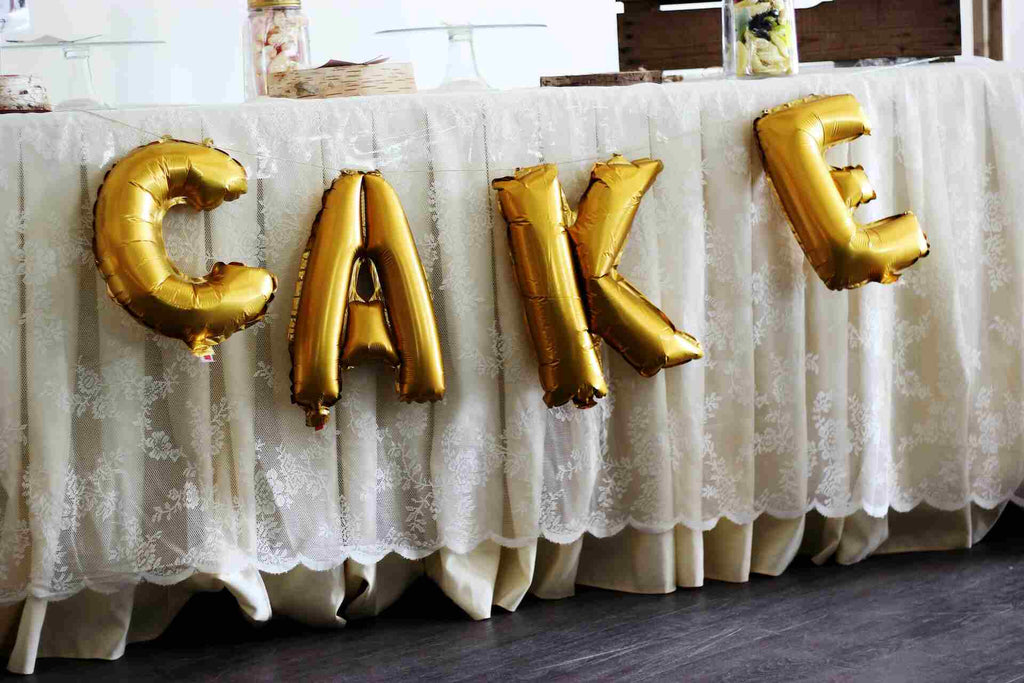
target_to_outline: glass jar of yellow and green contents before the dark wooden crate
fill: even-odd
[[[727,76],[792,76],[800,70],[794,0],[725,0],[722,28]]]

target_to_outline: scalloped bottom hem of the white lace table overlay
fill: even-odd
[[[475,550],[480,544],[490,541],[503,548],[524,548],[531,543],[536,543],[540,539],[550,541],[551,543],[556,543],[558,545],[568,545],[579,541],[585,533],[590,533],[591,536],[598,539],[608,539],[617,533],[624,531],[627,527],[634,530],[640,531],[641,533],[665,533],[678,526],[685,526],[693,531],[709,531],[722,519],[728,519],[733,524],[744,525],[754,523],[762,515],[768,515],[774,517],[775,519],[799,519],[800,517],[816,511],[824,517],[829,517],[834,519],[840,519],[849,517],[850,515],[856,514],[857,512],[865,512],[871,517],[881,519],[886,517],[889,512],[910,512],[911,510],[918,508],[922,504],[928,505],[943,512],[955,512],[957,510],[963,510],[970,505],[977,505],[986,510],[992,510],[999,505],[1013,503],[1021,508],[1024,508],[1024,496],[1013,495],[1006,498],[990,500],[985,499],[980,496],[972,496],[962,505],[943,505],[941,503],[928,500],[926,497],[921,497],[915,499],[913,503],[907,506],[898,505],[881,505],[874,506],[867,503],[861,503],[859,505],[851,505],[848,509],[837,510],[835,508],[828,508],[828,506],[822,504],[819,501],[814,501],[810,503],[806,509],[801,511],[779,511],[767,508],[760,512],[752,513],[751,515],[738,515],[724,513],[716,517],[709,518],[700,523],[693,523],[688,521],[684,516],[678,517],[673,522],[650,524],[648,522],[643,522],[633,517],[628,518],[622,523],[613,524],[607,527],[594,527],[590,526],[587,528],[581,528],[573,531],[558,532],[551,531],[549,529],[541,529],[538,536],[526,536],[526,537],[516,537],[516,538],[506,538],[498,533],[486,533],[479,538],[475,543],[467,544],[447,544],[444,541],[439,541],[429,547],[413,547],[413,546],[382,546],[373,547],[373,549],[367,547],[353,547],[349,549],[348,554],[340,557],[338,560],[315,560],[304,555],[297,555],[294,561],[280,564],[269,564],[260,561],[252,561],[251,559],[246,559],[239,562],[225,562],[217,566],[209,565],[199,565],[193,566],[181,571],[174,573],[156,573],[156,572],[124,572],[119,573],[115,579],[110,578],[110,573],[104,574],[104,579],[84,577],[78,582],[75,582],[74,587],[69,588],[63,591],[48,591],[40,586],[33,586],[31,583],[22,591],[17,593],[6,593],[0,594],[0,606],[10,605],[28,597],[37,598],[40,600],[47,600],[50,602],[56,602],[59,600],[66,600],[81,591],[88,588],[89,590],[95,591],[97,593],[113,594],[118,591],[125,590],[126,588],[131,588],[137,586],[143,582],[155,584],[158,586],[173,586],[179,584],[189,577],[197,573],[212,574],[217,578],[227,578],[231,574],[239,574],[246,571],[257,570],[263,573],[270,574],[281,574],[287,571],[291,571],[298,566],[303,566],[312,571],[328,571],[335,569],[347,560],[354,560],[360,564],[372,564],[383,559],[385,556],[392,553],[400,555],[407,560],[421,560],[429,555],[436,553],[439,550],[447,549],[457,554],[464,555]]]

